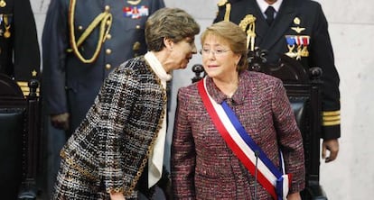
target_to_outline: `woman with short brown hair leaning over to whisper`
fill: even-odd
[[[199,32],[181,9],[163,8],[148,19],[150,51],[127,60],[105,80],[61,150],[53,199],[136,199],[141,188],[152,195],[163,171],[166,81],[197,53]]]

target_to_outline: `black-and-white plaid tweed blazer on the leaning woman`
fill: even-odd
[[[161,128],[165,106],[166,91],[143,56],[110,73],[95,104],[61,150],[62,171],[71,168],[78,176],[61,172],[54,198],[90,199],[98,193],[126,194],[133,189]]]

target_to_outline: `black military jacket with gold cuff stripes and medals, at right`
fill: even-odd
[[[228,5],[231,6],[230,9]],[[286,53],[298,59],[305,68],[323,69],[322,137],[339,138],[341,135],[340,78],[335,68],[328,23],[321,5],[310,0],[283,0],[271,25],[266,23],[256,0],[233,0],[221,4],[214,22],[224,20],[225,14],[229,15],[229,21],[237,24],[240,24],[247,14],[256,17],[255,46],[261,50],[268,50],[268,62],[276,63],[279,56]],[[300,45],[300,43],[304,44]],[[295,47],[293,50],[292,44]],[[300,50],[304,50],[298,55],[297,46],[300,46]]]

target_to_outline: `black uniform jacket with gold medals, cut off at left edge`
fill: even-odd
[[[0,73],[17,81],[29,81],[33,76],[38,76],[40,62],[30,1],[0,2]]]

